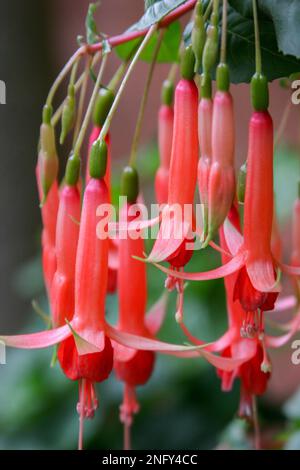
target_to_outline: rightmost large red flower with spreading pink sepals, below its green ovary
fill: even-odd
[[[183,273],[156,266],[169,276],[209,280],[238,272],[235,297],[249,311],[272,310],[279,292],[275,268],[300,275],[300,268],[280,263],[271,250],[273,219],[273,123],[267,111],[254,112],[249,128],[249,150],[244,206],[243,237],[225,224],[226,242],[232,255],[223,266],[203,273]]]

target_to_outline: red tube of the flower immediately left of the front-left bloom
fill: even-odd
[[[56,227],[57,269],[51,286],[54,327],[71,321],[75,308],[75,263],[81,200],[77,186],[65,184],[60,193]]]

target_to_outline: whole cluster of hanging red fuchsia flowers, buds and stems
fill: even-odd
[[[54,361],[79,387],[79,449],[83,447],[84,420],[92,418],[99,406],[95,385],[110,380],[113,370],[124,385],[120,420],[125,429],[125,448],[130,447],[130,427],[139,410],[136,389],[151,379],[157,353],[209,361],[216,368],[224,391],[231,390],[239,378],[239,414],[254,419],[255,397],[265,392],[272,372],[268,349],[284,345],[300,329],[300,200],[295,201],[291,261],[286,265],[274,243],[273,122],[268,112],[268,81],[261,69],[256,3],[253,2],[257,39],[257,67],[251,82],[253,113],[247,161],[237,184],[234,103],[226,64],[227,2],[223,1],[221,56],[214,94],[212,70],[218,60],[219,2],[214,2],[207,30],[204,25],[209,8],[204,14],[201,1],[188,3],[196,5],[192,45],[182,50],[176,87],[174,67],[163,83],[158,113],[160,165],[154,189],[157,202],[163,205],[158,217],[143,220],[143,195],[135,163],[149,85],[163,40],[164,30],[158,31],[163,22],[149,28],[107,86],[102,84],[104,69],[110,48],[120,37],[83,45],[54,83],[43,110],[36,177],[51,328],[27,335],[0,336],[0,340],[7,346],[24,349],[55,346]],[[167,17],[165,23],[168,21]],[[130,161],[122,174],[125,203],[114,224],[113,237],[110,124],[136,62],[154,34],[158,35],[157,45]],[[129,34],[128,39],[131,38]],[[87,66],[77,78],[83,56],[87,56]],[[89,72],[99,60],[99,73],[83,116]],[[203,73],[196,84],[199,67]],[[53,96],[69,72],[67,98],[53,113]],[[60,116],[60,141],[64,142],[71,130],[74,136],[62,181],[58,180],[55,136]],[[91,120],[88,152],[82,158]],[[203,208],[201,227],[195,215],[197,183]],[[241,204],[243,216],[239,211]],[[143,231],[154,224],[159,225],[158,234],[151,253],[145,257]],[[217,236],[219,244],[215,241]],[[185,270],[197,240],[201,249],[210,244],[221,253],[219,268],[194,273]],[[167,293],[146,311],[147,262],[166,273],[167,290],[177,291],[175,318],[189,346],[156,339],[165,317]],[[280,272],[292,280],[295,295],[278,300]],[[184,282],[218,278],[224,278],[225,283],[228,329],[221,338],[205,344],[185,325]],[[106,298],[112,293],[118,296],[119,305],[114,326],[106,319]],[[265,331],[265,312],[289,307],[295,308],[295,316],[289,323],[279,325],[284,334],[270,336]]]

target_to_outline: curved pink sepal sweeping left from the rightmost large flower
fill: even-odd
[[[241,253],[232,258],[232,260],[228,261],[228,263],[224,264],[223,266],[203,273],[179,272],[174,271],[173,269],[168,269],[165,266],[161,266],[160,264],[153,264],[162,272],[168,274],[168,276],[172,276],[178,279],[185,279],[187,281],[209,281],[212,279],[220,279],[222,277],[229,276],[230,274],[235,273],[244,265],[244,262],[245,254]]]

